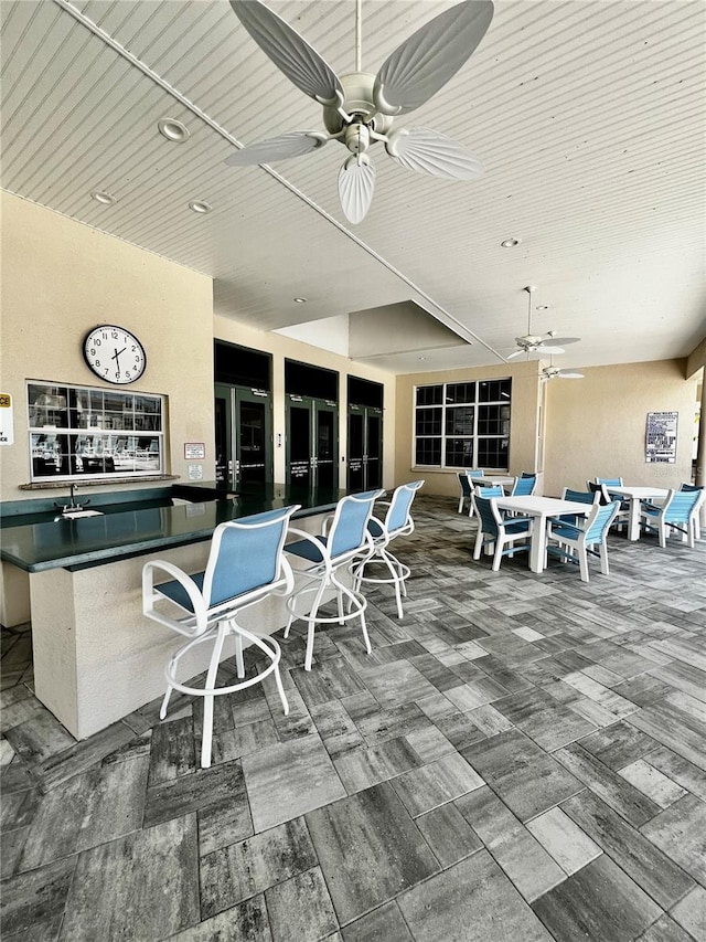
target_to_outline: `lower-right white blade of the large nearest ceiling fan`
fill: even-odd
[[[428,128],[393,130],[387,135],[385,148],[397,163],[418,173],[475,180],[483,172],[480,161],[458,141]]]

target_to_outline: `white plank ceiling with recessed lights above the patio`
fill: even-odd
[[[354,0],[269,6],[352,71]],[[450,6],[363,0],[363,67]],[[683,357],[706,332],[702,0],[496,0],[468,63],[396,119],[456,138],[484,176],[424,177],[378,145],[357,226],[339,205],[336,144],[271,168],[224,165],[239,144],[322,128],[227,0],[0,9],[2,187],[211,275],[234,320],[346,353],[349,313],[413,300],[472,341],[410,350],[398,331],[371,360],[394,372],[502,363],[526,332],[527,284],[548,306],[533,332],[581,338],[560,367]],[[167,117],[185,142],[158,133]],[[501,247],[509,237],[520,244]]]

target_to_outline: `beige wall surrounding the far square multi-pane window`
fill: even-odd
[[[458,494],[456,470],[431,472],[415,468],[413,454],[415,387],[442,382],[472,382],[512,377],[512,420],[510,428],[510,474],[542,470],[539,430],[542,426],[539,381],[541,363],[537,361],[500,367],[479,367],[443,372],[410,373],[397,377],[397,435],[395,441],[396,484],[411,477],[424,477],[425,494]]]

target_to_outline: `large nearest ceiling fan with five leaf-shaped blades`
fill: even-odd
[[[361,66],[361,2],[356,0],[355,72],[340,77],[285,20],[260,0],[231,6],[275,65],[306,95],[323,106],[325,133],[291,131],[253,144],[225,161],[231,166],[269,163],[300,157],[339,140],[350,151],[339,172],[339,195],[346,219],[367,213],[375,186],[368,150],[377,142],[402,167],[452,180],[474,180],[483,169],[460,144],[428,128],[393,128],[397,115],[418,108],[463,65],[493,18],[490,0],[464,0],[445,10],[409,36],[377,75]]]

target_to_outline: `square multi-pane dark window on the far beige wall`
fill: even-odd
[[[512,380],[417,387],[415,464],[506,470]]]

